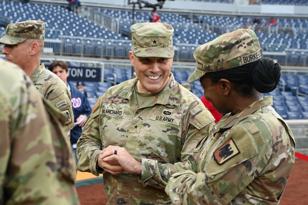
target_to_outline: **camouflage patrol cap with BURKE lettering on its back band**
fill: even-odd
[[[261,59],[260,43],[252,30],[237,29],[197,47],[194,58],[197,63],[187,80],[190,83],[207,72],[235,68]]]

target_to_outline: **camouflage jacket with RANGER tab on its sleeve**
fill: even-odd
[[[72,110],[71,92],[63,80],[53,72],[47,70],[44,64],[40,64],[30,76],[34,87],[39,93],[55,105],[61,113],[67,116],[64,129],[70,136],[70,129],[74,127],[74,115]]]

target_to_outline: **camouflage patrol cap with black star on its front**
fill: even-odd
[[[132,51],[138,58],[172,58],[174,29],[166,23],[136,23],[130,27]]]

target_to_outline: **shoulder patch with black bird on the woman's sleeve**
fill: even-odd
[[[220,146],[217,150],[215,150],[214,159],[217,164],[221,165],[224,162],[227,162],[232,157],[236,156],[237,154],[240,154],[240,150],[237,148],[235,142],[231,138],[222,146]]]

